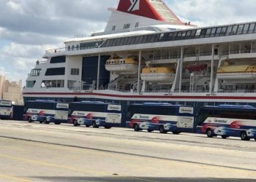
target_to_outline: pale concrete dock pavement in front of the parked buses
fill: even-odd
[[[0,181],[256,181],[256,142],[1,120]]]

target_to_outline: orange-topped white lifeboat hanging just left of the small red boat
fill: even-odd
[[[172,83],[175,78],[175,71],[167,67],[143,68],[140,77],[146,82],[168,82]]]

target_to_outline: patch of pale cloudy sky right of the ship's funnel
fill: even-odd
[[[223,25],[255,21],[255,0],[173,0],[167,1],[180,17],[196,25]]]

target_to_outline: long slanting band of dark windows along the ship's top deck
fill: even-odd
[[[108,39],[101,47],[256,33],[255,23]]]

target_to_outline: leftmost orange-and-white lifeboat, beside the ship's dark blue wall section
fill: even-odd
[[[138,62],[132,58],[107,60],[105,68],[116,74],[135,74],[138,72]]]

